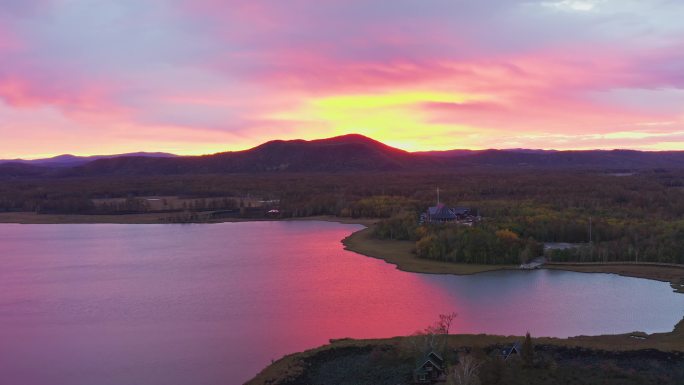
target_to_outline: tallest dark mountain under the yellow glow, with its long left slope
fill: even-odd
[[[362,135],[274,140],[244,151],[176,158],[117,157],[72,169],[72,175],[391,171],[430,167],[418,157]]]

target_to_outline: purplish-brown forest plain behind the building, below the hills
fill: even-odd
[[[684,171],[629,176],[602,172],[459,170],[445,173],[259,174],[1,180],[0,210],[34,211],[61,199],[142,196],[280,199],[302,215],[344,211],[364,198],[402,197],[422,210],[435,188],[450,204],[468,203],[487,217],[677,219],[684,215]],[[402,202],[406,203],[406,202]],[[474,205],[473,203],[477,203]],[[542,207],[546,211],[530,212]],[[531,215],[532,214],[532,215]]]

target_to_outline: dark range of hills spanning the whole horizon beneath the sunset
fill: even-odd
[[[684,168],[684,151],[452,150],[410,153],[362,135],[274,140],[244,151],[204,156],[132,153],[62,155],[0,161],[3,177],[80,177],[212,173],[440,171],[464,167],[636,170]]]

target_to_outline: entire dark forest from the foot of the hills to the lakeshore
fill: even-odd
[[[435,188],[451,205],[467,205],[485,219],[473,229],[435,228],[416,233],[417,213],[434,204]],[[393,218],[378,226],[382,238],[424,241],[425,257],[487,261],[490,253],[518,261],[530,239],[589,244],[555,253],[559,260],[639,260],[684,263],[684,171],[636,174],[603,171],[460,169],[451,173],[339,173],[183,175],[6,179],[0,211],[131,213],[151,208],[148,196],[195,199],[183,210],[232,208],[249,197],[279,201],[280,215]],[[95,205],[97,199],[120,199]],[[220,199],[210,199],[220,198]],[[225,205],[220,202],[225,199]],[[219,203],[210,203],[219,202]],[[237,204],[239,205],[239,203]],[[497,231],[516,243],[502,251]],[[487,255],[475,250],[482,245]],[[446,245],[446,246],[444,246]],[[478,246],[479,247],[479,246]],[[444,250],[444,251],[442,251]],[[448,250],[448,251],[447,251]],[[518,254],[516,256],[516,254]],[[524,258],[523,258],[524,259]]]

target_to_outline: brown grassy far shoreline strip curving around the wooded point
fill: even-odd
[[[474,265],[457,264],[416,258],[410,241],[380,240],[371,237],[373,224],[379,219],[346,218],[334,216],[312,216],[297,218],[216,218],[188,223],[170,223],[178,213],[145,214],[36,214],[34,212],[0,213],[0,223],[8,224],[196,224],[196,223],[239,223],[260,221],[327,221],[356,224],[365,228],[355,231],[341,242],[346,250],[367,257],[381,259],[393,264],[398,270],[422,274],[469,275],[490,271],[517,270],[517,265]],[[684,293],[684,265],[654,265],[652,263],[550,263],[543,268],[575,271],[579,273],[617,274],[625,277],[651,279],[668,282],[677,293]]]

